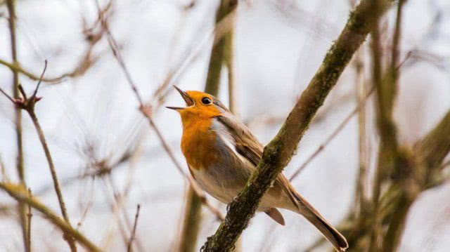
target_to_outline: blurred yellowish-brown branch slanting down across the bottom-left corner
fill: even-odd
[[[27,190],[21,187],[20,185],[13,185],[10,183],[1,183],[0,188],[7,192],[11,197],[13,197],[17,201],[21,201],[24,204],[31,206],[37,211],[41,212],[44,217],[50,220],[51,223],[56,225],[63,231],[64,234],[69,234],[70,237],[73,237],[76,241],[79,242],[86,250],[92,252],[100,252],[101,249],[98,248],[92,241],[87,239],[81,232],[75,230],[70,224],[65,222],[62,218],[60,218],[56,213],[53,213],[49,208],[41,204],[36,198],[30,197]]]

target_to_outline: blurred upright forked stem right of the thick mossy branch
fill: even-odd
[[[373,223],[371,244],[369,251],[375,252],[380,250],[380,236],[382,230],[382,216],[380,215],[380,193],[386,178],[393,172],[398,172],[402,167],[408,166],[408,160],[405,153],[399,150],[397,143],[397,129],[392,118],[394,108],[394,100],[397,94],[397,76],[396,69],[398,63],[399,52],[399,36],[401,27],[401,9],[404,1],[399,1],[397,8],[397,22],[394,32],[394,43],[392,48],[392,63],[388,68],[387,79],[382,79],[383,75],[383,49],[381,47],[380,38],[380,4],[383,1],[373,0],[371,6],[373,8],[373,22],[371,27],[372,43],[372,81],[377,91],[377,124],[378,135],[380,135],[380,145],[378,148],[378,164],[375,171],[375,182],[373,183]],[[404,167],[405,168],[405,167]],[[406,204],[406,202],[404,202]],[[398,216],[400,217],[400,216]],[[388,232],[390,233],[390,232]],[[398,244],[398,242],[395,242]],[[384,245],[383,245],[384,246]],[[394,246],[394,245],[392,245]],[[389,248],[389,249],[393,249]]]

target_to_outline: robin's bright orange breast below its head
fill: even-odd
[[[214,144],[216,133],[210,131],[212,118],[189,120],[184,123],[181,151],[193,169],[207,168],[217,159]]]

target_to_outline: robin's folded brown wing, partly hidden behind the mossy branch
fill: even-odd
[[[236,151],[254,164],[256,168],[259,160],[262,158],[262,152],[264,150],[262,144],[254,135],[252,135],[250,129],[248,129],[245,124],[238,121],[238,119],[236,119],[236,117],[228,110],[225,110],[225,112],[220,117],[217,117],[217,119],[231,131],[231,135],[236,142]],[[290,185],[289,181],[282,173],[278,174],[278,177],[275,180],[275,186],[281,187],[281,190],[288,195],[290,201],[298,208],[295,196],[293,192],[291,192],[292,185]]]

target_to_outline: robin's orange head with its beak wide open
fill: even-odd
[[[183,123],[186,123],[189,120],[218,117],[224,111],[228,111],[228,109],[213,95],[200,91],[182,91],[176,86],[174,86],[174,88],[186,102],[186,107],[167,108],[179,112]]]

